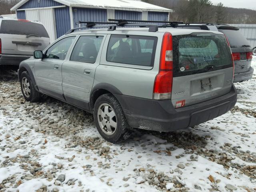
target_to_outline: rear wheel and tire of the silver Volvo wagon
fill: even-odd
[[[98,132],[108,142],[118,143],[130,137],[131,129],[124,111],[112,94],[104,94],[96,100],[94,121]]]

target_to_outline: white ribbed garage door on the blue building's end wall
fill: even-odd
[[[50,36],[50,42],[54,42],[56,39],[56,29],[53,9],[26,10],[26,19],[31,21],[40,21],[44,24]]]

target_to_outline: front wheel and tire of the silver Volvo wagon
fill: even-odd
[[[42,94],[34,88],[28,72],[24,71],[20,75],[20,87],[24,98],[30,102],[37,102],[41,99]]]

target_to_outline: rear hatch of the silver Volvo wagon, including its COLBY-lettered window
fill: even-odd
[[[223,34],[196,32],[173,36],[172,104],[175,108],[230,92],[233,62]]]

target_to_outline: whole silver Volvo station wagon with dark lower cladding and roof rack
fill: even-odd
[[[84,22],[92,29],[72,29],[21,62],[24,98],[48,95],[92,113],[113,143],[132,128],[175,131],[234,107],[234,61],[224,34],[116,21]]]

